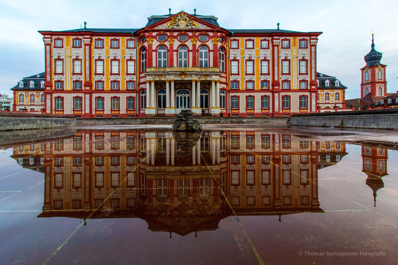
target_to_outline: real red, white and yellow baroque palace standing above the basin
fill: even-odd
[[[290,116],[316,112],[324,99],[317,95],[321,32],[282,30],[279,23],[277,29],[224,29],[216,17],[195,10],[151,16],[141,29],[39,33],[45,83],[36,94],[47,114],[122,118],[191,109],[212,116]],[[333,87],[340,97],[324,103],[343,108],[344,89]]]

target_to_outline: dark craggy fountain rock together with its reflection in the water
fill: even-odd
[[[185,152],[196,145],[203,132],[203,127],[191,110],[181,110],[172,128],[174,139]]]

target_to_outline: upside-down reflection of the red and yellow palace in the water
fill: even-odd
[[[17,147],[13,157],[26,164],[37,156],[29,148]],[[86,218],[105,206],[115,211],[90,218],[139,217],[153,231],[180,235],[217,229],[232,209],[322,212],[318,164],[324,154],[330,164],[347,154],[343,143],[251,131],[204,132],[190,151],[171,132],[140,131],[80,131],[37,148],[45,173],[39,217]]]

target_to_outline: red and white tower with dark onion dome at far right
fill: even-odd
[[[380,63],[382,52],[375,50],[373,34],[371,47],[371,51],[365,55],[366,66],[361,69],[361,98],[369,93],[377,97],[386,97],[386,65]]]

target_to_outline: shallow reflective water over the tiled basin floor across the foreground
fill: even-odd
[[[398,264],[397,151],[204,129],[2,149],[0,263]]]

